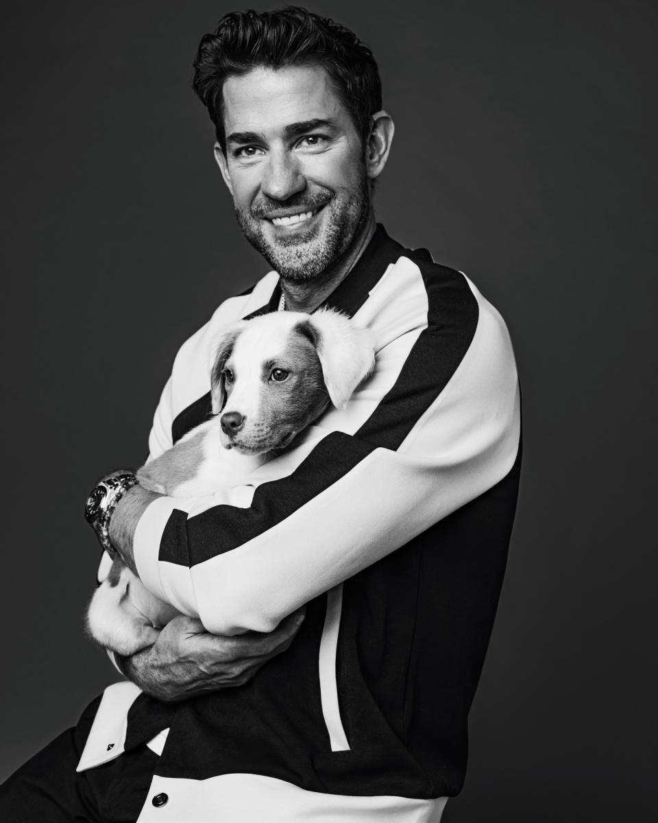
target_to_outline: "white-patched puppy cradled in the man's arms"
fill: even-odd
[[[374,365],[373,341],[343,314],[276,312],[221,332],[211,371],[211,420],[137,472],[141,486],[173,497],[237,485],[286,449],[330,404],[343,407]],[[179,612],[114,558],[87,611],[103,646],[133,654],[155,643]]]

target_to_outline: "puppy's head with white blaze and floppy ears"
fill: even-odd
[[[342,314],[276,312],[228,328],[211,372],[227,449],[283,449],[331,402],[342,407],[372,370],[369,333]]]

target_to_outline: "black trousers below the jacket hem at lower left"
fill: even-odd
[[[0,786],[2,823],[133,823],[160,758],[146,744],[85,772],[76,766],[100,697]]]

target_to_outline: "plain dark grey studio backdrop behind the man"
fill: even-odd
[[[146,458],[178,346],[266,271],[190,87],[201,35],[250,5],[3,12],[0,778],[118,679],[82,633],[86,494]],[[654,819],[653,4],[308,7],[381,68],[378,219],[476,282],[521,373],[517,522],[444,819]]]

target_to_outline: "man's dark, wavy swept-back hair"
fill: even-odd
[[[365,143],[371,116],[382,108],[382,81],[373,53],[353,32],[295,6],[223,16],[215,33],[204,35],[199,44],[192,81],[215,123],[222,151],[226,151],[222,88],[228,77],[257,67],[312,63],[327,70]]]

